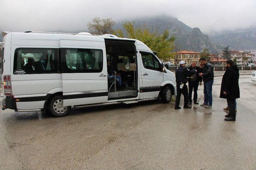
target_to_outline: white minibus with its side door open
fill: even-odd
[[[2,109],[45,111],[176,96],[175,74],[141,41],[90,33],[3,32]]]

